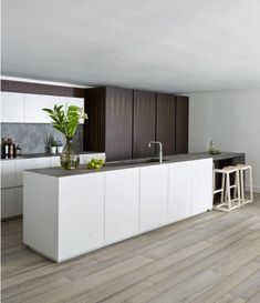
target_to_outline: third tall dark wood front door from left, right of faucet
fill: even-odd
[[[156,141],[163,143],[163,153],[175,154],[175,95],[156,95]]]

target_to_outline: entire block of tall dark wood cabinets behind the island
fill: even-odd
[[[164,154],[188,152],[188,98],[102,87],[87,89],[84,150],[124,160],[156,154],[149,141],[160,141]]]

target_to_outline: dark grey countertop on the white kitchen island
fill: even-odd
[[[199,159],[210,159],[210,158],[214,161],[221,161],[221,160],[228,160],[228,159],[232,159],[237,156],[245,156],[245,153],[221,152],[220,154],[211,155],[208,152],[198,152],[198,153],[187,153],[187,154],[175,154],[175,155],[164,156],[164,162],[162,164],[199,160]],[[143,158],[143,159],[106,162],[105,165],[98,170],[89,170],[85,165],[80,165],[76,170],[73,170],[73,171],[64,170],[63,168],[35,169],[35,170],[29,170],[29,171],[34,173],[45,174],[49,176],[54,176],[54,178],[63,178],[63,176],[80,175],[85,173],[106,172],[106,171],[115,171],[121,169],[133,169],[138,166],[158,165],[158,164],[159,162],[157,161],[157,158]]]

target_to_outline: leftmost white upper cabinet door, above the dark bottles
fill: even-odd
[[[24,94],[1,92],[1,122],[24,122]]]

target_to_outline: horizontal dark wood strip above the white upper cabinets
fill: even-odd
[[[1,80],[1,91],[84,98],[85,89]]]

